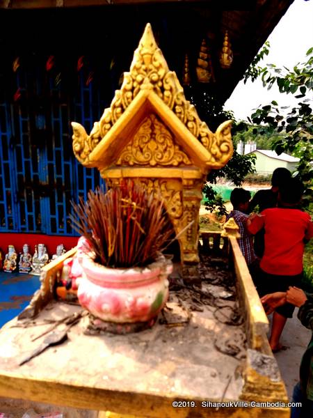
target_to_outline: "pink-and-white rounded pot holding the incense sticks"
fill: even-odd
[[[171,261],[160,255],[145,268],[107,268],[93,261],[92,254],[84,251],[88,247],[81,237],[77,259],[83,274],[77,296],[82,307],[115,323],[145,322],[159,314],[168,300]]]

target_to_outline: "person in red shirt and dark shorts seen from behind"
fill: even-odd
[[[278,207],[252,215],[248,231],[255,234],[264,228],[264,255],[259,263],[260,274],[256,283],[262,297],[267,293],[285,292],[289,286],[300,287],[303,275],[303,251],[305,242],[313,236],[310,215],[298,208],[303,183],[290,178],[278,194]],[[282,348],[280,335],[287,318],[291,318],[294,306],[284,304],[275,309],[269,343],[275,353]]]

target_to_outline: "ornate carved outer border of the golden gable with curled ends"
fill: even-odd
[[[115,92],[111,107],[104,110],[99,122],[95,122],[90,135],[79,123],[72,123],[73,150],[82,164],[91,164],[90,153],[124,114],[138,93],[144,90],[156,93],[189,132],[200,141],[209,153],[205,163],[208,169],[220,168],[226,164],[232,155],[231,121],[220,125],[216,134],[209,130],[206,123],[200,121],[195,107],[186,100],[175,72],[168,69],[161,49],[154,40],[150,24],[145,27],[143,37],[134,52],[130,71],[124,73],[122,87]]]

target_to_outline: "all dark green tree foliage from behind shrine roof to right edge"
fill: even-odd
[[[304,99],[289,111],[287,107],[279,107],[278,102],[273,100],[270,104],[257,109],[248,118],[250,124],[243,121],[236,123],[233,113],[224,111],[223,105],[208,91],[191,86],[187,95],[195,104],[200,118],[206,121],[212,130],[216,130],[216,127],[226,119],[231,118],[234,121],[232,134],[235,144],[240,139],[246,141],[254,137],[259,140],[257,145],[260,149],[271,148],[278,155],[285,152],[299,157],[300,161],[294,176],[298,176],[305,183],[307,187],[305,201],[309,206],[313,200],[313,115],[310,100],[305,99],[305,95],[313,91],[313,47],[307,51],[307,61],[298,63],[292,70],[285,67],[278,68],[274,64],[260,66],[259,62],[268,55],[269,47],[269,43],[265,42],[243,76],[243,80],[245,83],[248,79],[254,82],[258,77],[262,77],[263,85],[268,90],[276,83],[280,93],[294,95],[296,99]],[[207,181],[216,183],[217,178],[226,177],[232,180],[234,185],[239,186],[248,173],[255,172],[253,164],[253,155],[238,155],[234,151],[230,162],[223,169],[209,173]],[[203,192],[209,210],[225,213],[222,199],[211,186],[205,185]]]

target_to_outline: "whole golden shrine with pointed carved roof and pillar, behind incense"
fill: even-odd
[[[109,186],[139,178],[160,191],[175,232],[186,229],[179,235],[181,261],[195,264],[202,186],[207,173],[232,156],[231,124],[222,123],[214,134],[200,121],[147,24],[111,107],[89,135],[72,123],[73,150],[81,164],[97,167]]]

